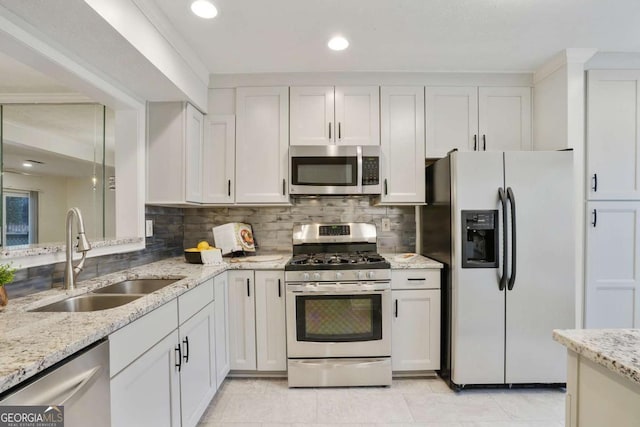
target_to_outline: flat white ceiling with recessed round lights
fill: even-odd
[[[212,0],[213,20],[146,1],[212,73],[532,72],[566,48],[640,51],[638,0]],[[326,48],[337,33],[346,51]]]

